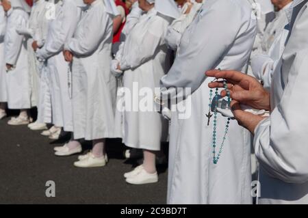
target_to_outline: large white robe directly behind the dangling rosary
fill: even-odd
[[[232,13],[233,16],[229,16]],[[242,70],[256,33],[256,18],[246,0],[207,0],[181,38],[175,63],[162,78],[163,87],[191,87],[191,113],[170,125],[168,204],[251,204],[248,132],[231,120],[217,165],[213,163],[213,126],[207,126],[209,87],[205,71]],[[175,98],[175,92],[169,93]],[[189,111],[188,105],[188,111]],[[226,118],[218,115],[217,142]],[[226,182],[227,181],[227,182]]]

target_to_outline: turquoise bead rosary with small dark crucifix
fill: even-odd
[[[230,106],[230,103],[231,103],[231,97],[230,97],[230,92],[228,90],[228,87],[227,87],[227,82],[226,81],[223,81],[224,83],[224,90],[226,90],[227,92],[227,105]],[[227,124],[224,128],[224,137],[222,138],[222,143],[220,144],[220,147],[219,147],[219,151],[218,151],[218,154],[216,156],[216,147],[217,147],[217,144],[216,144],[216,130],[217,130],[217,108],[218,108],[218,100],[221,98],[221,96],[218,94],[218,88],[216,88],[216,92],[215,92],[215,96],[214,96],[214,99],[213,99],[213,89],[211,89],[209,91],[209,113],[207,113],[207,126],[209,126],[209,123],[211,121],[211,117],[213,116],[213,114],[211,112],[214,112],[214,127],[213,127],[213,163],[214,164],[217,164],[219,159],[220,159],[220,156],[222,154],[222,149],[224,148],[224,141],[226,140],[227,138],[227,134],[228,134],[228,131],[229,131],[229,124],[230,124],[230,120],[231,118],[228,118],[227,119]]]

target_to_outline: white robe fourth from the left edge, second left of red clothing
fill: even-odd
[[[81,8],[73,0],[59,1],[56,5],[55,20],[49,25],[47,41],[38,49],[37,56],[47,59],[51,92],[52,123],[64,131],[73,131],[72,102],[68,87],[69,65],[63,56],[64,43],[73,36],[81,16]]]

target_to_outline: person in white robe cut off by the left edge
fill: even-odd
[[[0,120],[5,118],[6,102],[8,96],[6,94],[6,72],[5,72],[5,56],[4,56],[4,37],[5,37],[6,17],[3,7],[0,6]]]

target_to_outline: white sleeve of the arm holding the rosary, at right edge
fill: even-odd
[[[308,81],[308,52],[288,75],[288,83],[277,107],[255,129],[254,147],[266,172],[284,182],[308,180],[308,103],[303,95]]]

